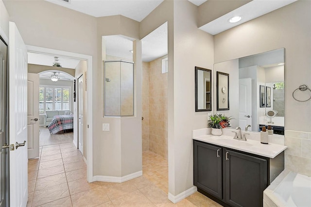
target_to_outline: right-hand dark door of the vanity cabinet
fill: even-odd
[[[234,207],[262,207],[267,160],[225,150],[225,202]]]

